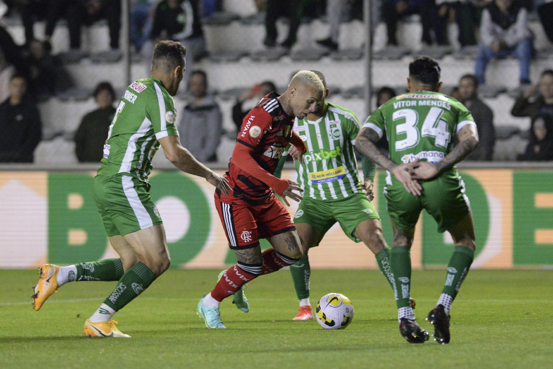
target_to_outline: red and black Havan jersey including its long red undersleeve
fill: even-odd
[[[273,176],[294,125],[294,117],[284,112],[278,96],[269,93],[242,121],[225,175],[234,198],[264,202],[272,189],[281,195],[289,186],[287,180]]]

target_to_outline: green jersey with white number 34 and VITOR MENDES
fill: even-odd
[[[390,160],[396,164],[416,159],[437,163],[450,153],[453,136],[466,124],[476,125],[468,109],[455,98],[416,91],[384,103],[363,127],[380,137],[386,134]],[[456,172],[455,167],[451,170]]]

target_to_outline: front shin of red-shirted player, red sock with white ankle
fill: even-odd
[[[211,290],[211,293],[204,297],[204,305],[208,308],[218,308],[219,303],[236,293],[240,287],[250,280],[261,275],[262,264],[246,264],[238,262],[228,268],[221,276],[221,279]]]

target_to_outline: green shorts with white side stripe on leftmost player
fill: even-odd
[[[97,175],[94,199],[108,237],[162,224],[148,191],[150,185],[130,175]]]

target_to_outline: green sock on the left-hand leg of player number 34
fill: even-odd
[[[390,250],[390,269],[396,285],[395,301],[399,308],[410,308],[409,290],[411,289],[411,251],[406,246],[392,247]]]

